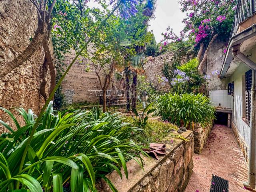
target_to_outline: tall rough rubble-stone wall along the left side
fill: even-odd
[[[30,38],[34,37],[37,22],[36,9],[30,0],[0,1],[0,65],[11,61],[26,49]],[[39,94],[43,61],[44,54],[42,47],[39,47],[26,62],[0,79],[0,107],[23,107],[32,109],[34,113],[39,112],[44,103]],[[16,117],[22,122],[20,116]],[[0,119],[12,125],[3,111],[0,111]],[[4,131],[0,127],[0,133]]]

